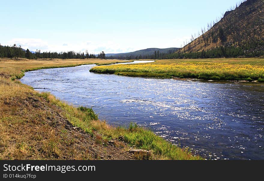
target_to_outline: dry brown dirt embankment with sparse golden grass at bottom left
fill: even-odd
[[[128,145],[106,142],[64,118],[60,107],[41,97],[0,98],[1,159],[133,159]]]

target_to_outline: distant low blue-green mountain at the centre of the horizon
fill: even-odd
[[[168,53],[173,53],[175,51],[179,50],[179,48],[147,48],[144,50],[138,50],[134,52],[129,52],[129,53],[119,53],[119,54],[106,54],[106,57],[116,57],[116,58],[122,58],[122,59],[127,59],[128,57],[149,57],[151,55],[156,53],[158,54],[168,54]]]

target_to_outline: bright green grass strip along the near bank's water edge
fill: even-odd
[[[155,135],[151,130],[138,127],[137,124],[130,124],[129,127],[113,127],[105,121],[98,120],[92,109],[86,107],[74,107],[56,99],[49,93],[39,93],[38,96],[45,98],[49,102],[61,107],[64,116],[74,126],[80,127],[86,133],[93,136],[93,131],[98,131],[105,138],[125,137],[125,142],[138,149],[146,149],[152,152],[152,159],[170,160],[202,160],[200,156],[193,156],[189,150],[184,150],[163,138]]]

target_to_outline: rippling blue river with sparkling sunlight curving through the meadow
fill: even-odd
[[[207,159],[264,159],[264,84],[96,74],[93,66],[26,72],[21,82],[92,107],[109,124],[149,127]]]

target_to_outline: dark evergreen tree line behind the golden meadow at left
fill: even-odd
[[[75,51],[68,51],[68,52],[42,52],[41,50],[37,50],[35,53],[32,53],[27,49],[26,51],[21,48],[21,46],[2,46],[0,44],[0,57],[1,58],[27,58],[27,59],[85,59],[85,58],[101,58],[105,59],[105,53],[102,51],[100,54],[89,54],[86,50],[84,52],[75,52]]]

